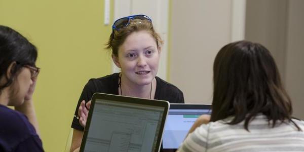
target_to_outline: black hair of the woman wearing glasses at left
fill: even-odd
[[[5,77],[6,83],[0,84],[1,91],[10,86],[17,77],[22,65],[35,65],[37,49],[28,40],[14,29],[0,25],[0,78]],[[7,77],[7,70],[11,63],[12,77]]]

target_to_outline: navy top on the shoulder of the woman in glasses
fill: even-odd
[[[4,151],[44,151],[36,130],[26,116],[8,107],[0,107],[0,142]]]

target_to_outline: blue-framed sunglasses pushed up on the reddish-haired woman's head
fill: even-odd
[[[112,25],[112,30],[119,30],[120,28],[128,26],[130,23],[130,19],[149,20],[150,22],[152,22],[152,19],[145,15],[132,15],[116,20]]]

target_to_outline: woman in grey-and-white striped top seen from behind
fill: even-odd
[[[178,151],[304,151],[304,122],[271,53],[239,41],[220,49],[213,65],[210,122],[200,117]]]

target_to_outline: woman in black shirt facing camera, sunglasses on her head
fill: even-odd
[[[70,151],[81,145],[91,103],[88,101],[96,92],[184,103],[183,93],[177,87],[156,77],[162,44],[146,15],[128,16],[113,23],[107,49],[112,51],[112,59],[121,72],[91,79],[86,84],[72,122]]]

